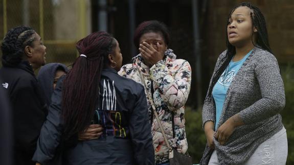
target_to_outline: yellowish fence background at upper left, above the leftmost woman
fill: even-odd
[[[91,31],[87,7],[87,0],[1,0],[0,38],[13,27],[30,26],[47,47],[47,63],[69,65],[77,56],[76,41]]]

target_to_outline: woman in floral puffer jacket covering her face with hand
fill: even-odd
[[[147,101],[155,164],[169,164],[169,149],[154,117],[150,100],[154,102],[169,145],[185,154],[188,144],[184,106],[190,92],[191,67],[188,61],[176,59],[173,50],[168,49],[169,33],[162,22],[142,22],[135,30],[134,44],[140,54],[132,58],[132,63],[124,65],[119,74],[143,85],[147,84],[145,92],[152,97]],[[146,96],[148,97],[147,93]]]

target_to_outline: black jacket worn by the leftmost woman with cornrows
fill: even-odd
[[[7,90],[12,106],[14,163],[35,164],[31,159],[46,120],[44,94],[28,61],[0,69],[0,87]]]

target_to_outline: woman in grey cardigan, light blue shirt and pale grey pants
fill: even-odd
[[[216,62],[202,109],[207,147],[200,164],[285,164],[284,106],[265,19],[256,6],[239,4],[229,14],[227,50]]]

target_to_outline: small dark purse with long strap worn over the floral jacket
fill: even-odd
[[[141,76],[141,81],[143,83],[143,85],[145,86],[145,89],[147,90],[147,84],[144,80],[144,76],[142,75],[139,67],[138,67],[138,72],[140,73],[140,76]],[[168,154],[168,158],[169,158],[169,164],[170,165],[192,165],[192,157],[189,156],[189,155],[184,155],[184,154],[181,154],[179,152],[177,152],[176,149],[172,148],[169,143],[168,143],[168,140],[167,140],[167,137],[166,137],[166,134],[164,132],[164,129],[163,129],[163,126],[161,124],[161,121],[159,119],[159,116],[156,112],[156,109],[155,109],[155,106],[154,106],[154,102],[153,102],[153,99],[151,98],[148,90],[147,90],[147,98],[148,100],[150,101],[150,104],[151,104],[151,107],[153,109],[153,113],[155,115],[155,118],[157,120],[157,123],[159,124],[160,126],[160,130],[163,134],[163,137],[164,137],[164,140],[165,140],[165,143],[169,149],[169,154]]]

